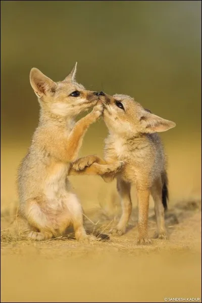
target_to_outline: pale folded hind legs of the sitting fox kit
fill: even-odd
[[[72,224],[75,231],[75,238],[94,239],[95,237],[87,235],[83,227],[82,207],[73,193],[68,193],[63,200],[64,208],[51,209],[48,204],[37,199],[27,201],[25,217],[30,228],[25,231],[28,238],[34,240],[47,240],[53,236],[62,235],[65,229]]]

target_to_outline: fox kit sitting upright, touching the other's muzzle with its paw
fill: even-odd
[[[40,118],[18,170],[18,191],[20,214],[28,223],[26,235],[36,240],[59,236],[69,225],[73,225],[76,239],[90,237],[67,176],[88,126],[102,115],[103,106],[96,105],[91,113],[74,122],[78,114],[98,101],[98,93],[85,90],[76,82],[75,74],[76,65],[61,82],[52,81],[36,68],[30,72]]]

